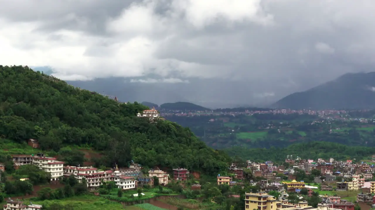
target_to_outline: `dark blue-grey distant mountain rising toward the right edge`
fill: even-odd
[[[348,73],[312,89],[288,95],[273,108],[374,109],[375,72]]]

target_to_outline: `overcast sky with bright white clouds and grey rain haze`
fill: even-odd
[[[82,86],[122,78],[113,89],[136,100],[153,89],[157,103],[267,104],[375,62],[374,0],[0,5],[1,65],[48,67]]]

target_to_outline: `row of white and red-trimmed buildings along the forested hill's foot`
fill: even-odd
[[[114,181],[120,189],[135,189],[138,185],[154,185],[154,177],[160,185],[167,185],[169,174],[160,169],[150,169],[148,175],[141,172],[139,164],[131,163],[128,167],[118,168],[117,165],[111,170],[99,170],[92,166],[69,166],[63,161],[58,161],[54,157],[45,157],[43,154],[34,155],[12,155],[13,167],[17,170],[24,164],[38,166],[40,170],[51,173],[51,182],[58,181],[61,177],[74,176],[78,182],[86,179],[87,187],[95,189],[102,182]],[[1,170],[1,167],[0,167]],[[189,170],[178,168],[173,169],[174,180],[186,180],[189,177]]]

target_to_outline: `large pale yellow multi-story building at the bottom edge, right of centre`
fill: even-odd
[[[281,208],[281,202],[267,193],[246,193],[245,194],[245,210],[276,210]]]

